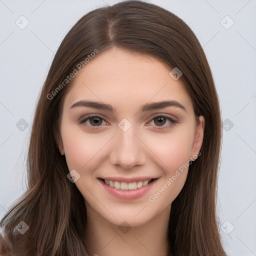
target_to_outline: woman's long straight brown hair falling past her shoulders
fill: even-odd
[[[171,205],[171,253],[226,255],[215,209],[221,118],[211,71],[192,30],[173,13],[142,1],[124,1],[90,11],[61,42],[35,111],[27,190],[0,222],[6,249],[11,255],[88,255],[83,239],[85,203],[67,178],[65,157],[56,145],[63,99],[74,79],[66,84],[63,81],[91,52],[100,54],[113,46],[149,54],[182,71],[180,79],[192,99],[195,115],[204,116],[205,128],[201,154],[190,164],[185,184]],[[61,89],[56,90],[61,83]],[[15,228],[20,221],[29,227],[24,234]]]

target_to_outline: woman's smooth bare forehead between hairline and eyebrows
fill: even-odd
[[[169,75],[171,69],[150,55],[111,48],[76,74],[65,103],[91,99],[132,108],[148,101],[176,100],[189,108],[191,99],[181,79]]]

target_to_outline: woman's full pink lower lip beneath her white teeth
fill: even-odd
[[[111,195],[113,195],[117,198],[125,199],[125,200],[134,200],[134,199],[141,197],[142,195],[144,195],[146,192],[148,192],[152,188],[152,186],[155,184],[156,180],[157,179],[155,179],[151,183],[149,183],[145,186],[142,186],[140,188],[137,188],[137,189],[121,190],[121,189],[111,187],[111,186],[107,185],[103,180],[99,179],[100,183],[103,185],[103,187],[106,189],[107,192],[109,192]]]

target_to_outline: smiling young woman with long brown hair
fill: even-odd
[[[220,142],[211,71],[180,18],[140,1],[87,13],[40,93],[2,255],[226,255]]]

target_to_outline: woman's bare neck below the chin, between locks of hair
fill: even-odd
[[[86,236],[90,256],[167,256],[170,205],[149,222],[132,227],[115,225],[86,206]]]

